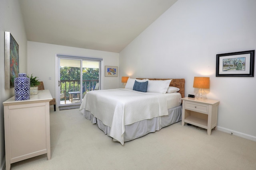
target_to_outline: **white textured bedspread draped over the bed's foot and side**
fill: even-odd
[[[125,125],[168,115],[167,107],[164,94],[110,89],[86,93],[80,111],[90,111],[105,125],[111,127],[110,136],[123,145]]]

